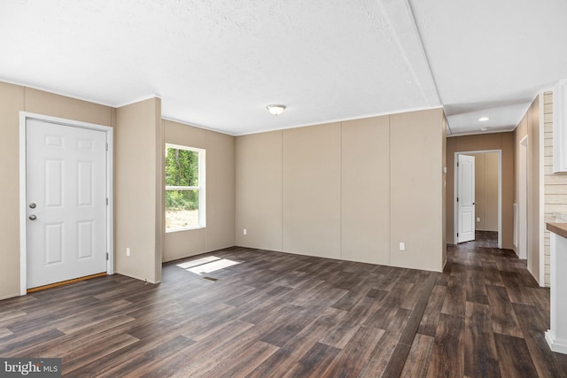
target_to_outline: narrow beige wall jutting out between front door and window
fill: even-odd
[[[152,283],[161,281],[164,233],[160,118],[159,98],[120,107],[114,141],[115,270]]]

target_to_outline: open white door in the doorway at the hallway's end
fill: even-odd
[[[457,243],[475,240],[475,157],[458,155]]]

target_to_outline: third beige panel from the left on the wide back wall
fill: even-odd
[[[390,265],[390,117],[342,127],[342,258]]]

